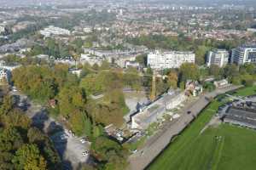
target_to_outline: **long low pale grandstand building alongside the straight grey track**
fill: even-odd
[[[167,110],[172,110],[180,105],[187,97],[184,93],[172,91],[164,94],[160,99],[157,99],[152,104],[141,109],[136,115],[131,116],[132,129],[147,129],[148,126],[157,122]]]

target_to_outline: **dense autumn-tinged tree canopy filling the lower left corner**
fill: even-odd
[[[49,138],[31,127],[9,95],[0,108],[0,169],[60,169],[60,157]]]

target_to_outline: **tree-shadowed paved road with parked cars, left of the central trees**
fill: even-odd
[[[32,119],[33,126],[42,129],[44,133],[48,133],[50,129],[59,129],[57,133],[50,136],[50,139],[61,156],[65,169],[76,169],[80,162],[88,162],[90,160],[90,156],[82,155],[84,151],[90,150],[90,143],[85,142],[82,144],[80,142],[81,138],[73,137],[72,134],[65,139],[61,139],[61,136],[68,130],[64,125],[49,117],[42,105],[33,103],[26,95],[20,94],[18,91],[11,91],[10,94],[19,96],[20,101],[26,100],[26,116]]]

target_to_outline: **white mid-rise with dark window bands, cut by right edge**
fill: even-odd
[[[256,46],[241,46],[232,49],[231,62],[237,65],[256,63]]]

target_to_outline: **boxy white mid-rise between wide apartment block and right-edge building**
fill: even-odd
[[[207,54],[207,66],[218,65],[223,67],[229,63],[230,54],[227,50],[216,49]]]

